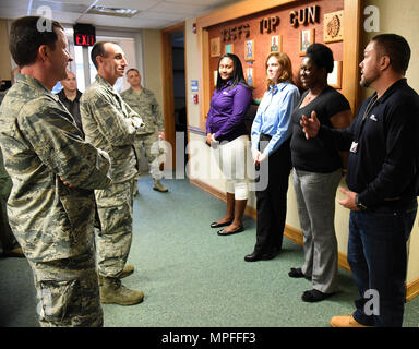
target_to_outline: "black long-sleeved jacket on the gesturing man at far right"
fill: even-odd
[[[352,148],[346,182],[362,204],[371,210],[411,207],[419,176],[419,96],[406,79],[381,98],[376,93],[368,98],[348,129],[322,128],[319,136],[332,133],[339,148]]]

